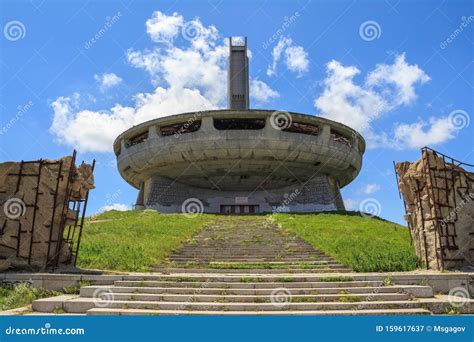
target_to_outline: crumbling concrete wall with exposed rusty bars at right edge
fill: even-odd
[[[474,265],[474,173],[429,150],[396,165],[413,244],[427,268]]]

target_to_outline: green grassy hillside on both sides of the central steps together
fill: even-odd
[[[350,213],[272,215],[285,229],[359,272],[408,271],[416,255],[408,229]],[[153,211],[109,211],[88,218],[77,265],[149,271],[219,215],[188,218]]]

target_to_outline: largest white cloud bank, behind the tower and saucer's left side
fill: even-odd
[[[204,26],[198,18],[186,21],[178,13],[157,11],[147,20],[146,29],[156,44],[129,50],[126,57],[132,67],[148,74],[153,91],[135,94],[132,106],[115,104],[103,111],[84,109],[81,104],[86,94],[58,97],[51,104],[54,118],[50,132],[60,143],[81,152],[112,152],[117,135],[133,125],[225,106],[228,45],[214,26]],[[181,45],[176,44],[179,36]],[[104,85],[114,83],[113,77],[105,75],[96,75],[96,79]],[[251,98],[257,102],[278,96],[263,81],[252,79],[250,84]]]

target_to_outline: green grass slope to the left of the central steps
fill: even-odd
[[[212,215],[193,218],[154,211],[111,210],[86,221],[78,267],[144,272],[196,234]],[[104,220],[100,222],[100,220]]]

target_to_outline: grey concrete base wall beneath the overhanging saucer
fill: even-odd
[[[191,187],[160,176],[145,182],[145,207],[164,213],[185,211],[183,203],[196,198],[201,210],[219,213],[221,205],[259,205],[260,212],[318,212],[343,210],[335,182],[327,176],[313,178],[304,185],[295,184],[272,191],[220,191]]]

